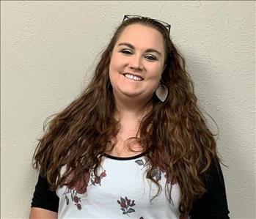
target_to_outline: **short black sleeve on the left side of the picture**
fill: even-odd
[[[59,209],[59,197],[55,191],[49,190],[48,182],[41,174],[34,189],[31,207],[40,207],[53,212],[58,212]]]

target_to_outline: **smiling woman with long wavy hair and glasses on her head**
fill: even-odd
[[[125,15],[37,145],[30,218],[229,218],[216,141],[169,30]]]

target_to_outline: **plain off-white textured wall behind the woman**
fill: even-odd
[[[219,126],[230,217],[255,218],[254,1],[1,1],[1,218],[28,218],[43,122],[81,92],[124,14],[172,24]]]

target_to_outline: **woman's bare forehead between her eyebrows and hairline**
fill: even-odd
[[[155,48],[164,51],[164,39],[161,33],[152,27],[142,24],[131,24],[127,26],[120,34],[116,45],[122,42],[128,42],[135,48]]]

